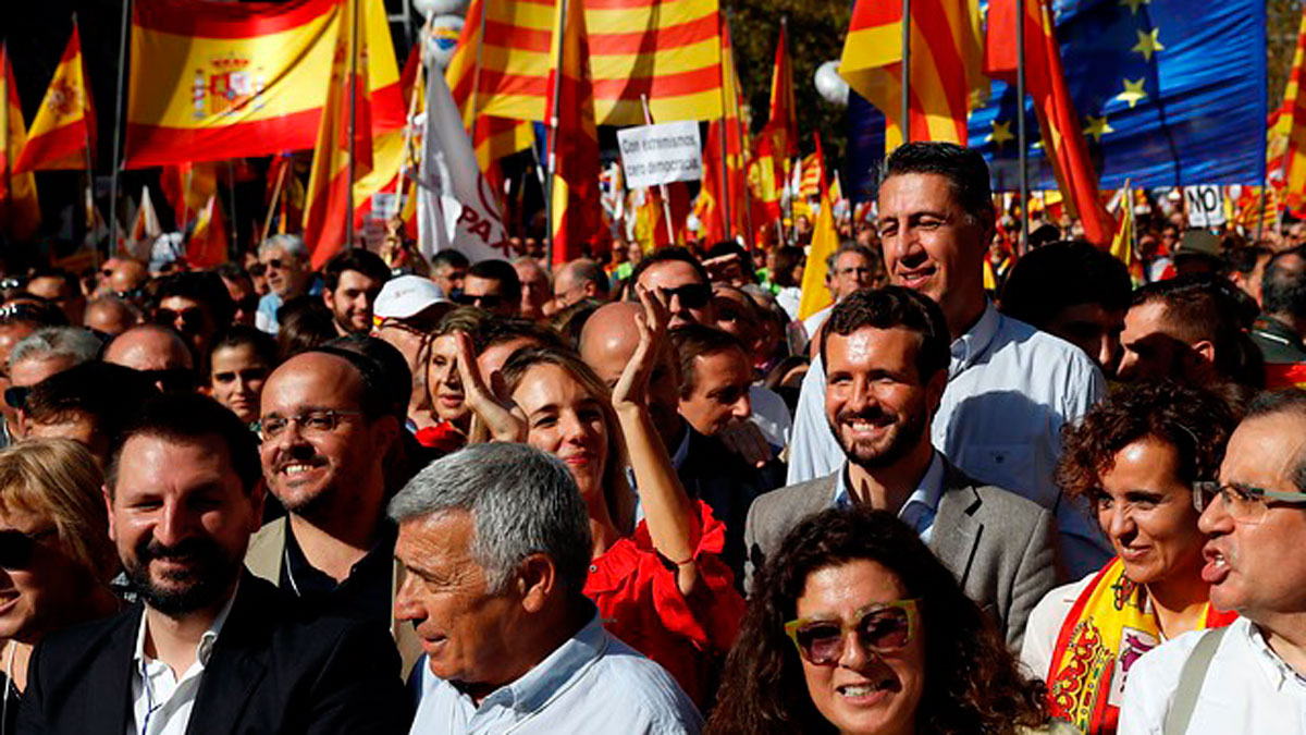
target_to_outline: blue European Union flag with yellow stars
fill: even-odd
[[[1054,8],[1066,81],[1102,188],[1126,179],[1136,187],[1264,179],[1263,1],[1055,0]],[[1057,188],[1025,102],[1030,188]],[[995,81],[969,120],[970,146],[1004,191],[1020,187],[1015,115],[1015,88]],[[850,177],[853,191],[865,190],[861,165],[875,156],[863,128],[883,128],[872,116],[849,107],[849,161],[861,174]]]

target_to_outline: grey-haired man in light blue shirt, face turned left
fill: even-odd
[[[396,615],[423,638],[410,732],[697,732],[660,666],[609,634],[582,590],[589,519],[571,472],[515,443],[474,445],[389,505],[407,575]]]

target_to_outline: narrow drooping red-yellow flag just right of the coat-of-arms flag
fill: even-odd
[[[354,33],[354,24],[359,24]],[[384,34],[380,48],[375,43]],[[354,44],[354,37],[358,44]],[[330,34],[336,48],[326,90],[326,103],[321,109],[317,143],[313,146],[313,165],[308,175],[308,201],[304,207],[304,241],[312,248],[312,265],[320,268],[346,245],[349,218],[354,216],[353,184],[372,171],[372,146],[381,143],[387,131],[376,129],[372,119],[372,97],[368,93],[370,67],[387,59],[394,61],[393,44],[385,8],[380,0],[343,0]],[[396,86],[396,94],[398,88]],[[350,97],[353,95],[353,105]],[[397,99],[397,97],[396,97]],[[353,107],[353,109],[351,109]],[[350,114],[354,120],[354,140],[350,145]],[[392,128],[393,129],[393,128]],[[394,133],[392,133],[394,135]],[[350,150],[353,148],[353,152]],[[350,154],[353,153],[353,180],[350,180]]]

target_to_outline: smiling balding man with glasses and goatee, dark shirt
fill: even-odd
[[[263,475],[286,515],[253,535],[246,564],[312,609],[387,626],[409,671],[421,641],[394,620],[402,579],[385,518],[387,460],[404,417],[385,371],[355,352],[319,347],[273,370],[261,404]]]

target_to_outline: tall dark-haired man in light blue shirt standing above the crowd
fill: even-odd
[[[952,335],[948,385],[931,438],[966,475],[1007,488],[1057,517],[1072,575],[1098,569],[1110,545],[1088,513],[1053,483],[1060,428],[1105,394],[1084,352],[998,313],[985,297],[982,260],[994,230],[989,167],[974,150],[912,143],[885,163],[879,218],[889,282],[943,309]],[[825,370],[803,378],[789,453],[789,483],[825,476],[844,454],[825,428]]]

